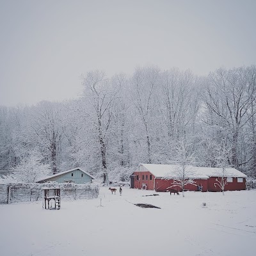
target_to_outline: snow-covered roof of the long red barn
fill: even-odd
[[[152,173],[157,178],[163,178],[167,174],[173,174],[177,172],[177,165],[175,164],[139,164],[137,172],[145,172],[144,166],[150,173]],[[189,166],[189,172],[193,173],[193,178],[197,179],[208,179],[209,177],[220,177],[222,174],[222,168],[211,168],[211,167],[195,167]],[[246,178],[247,176],[239,172],[235,168],[225,168],[225,177],[239,177]]]

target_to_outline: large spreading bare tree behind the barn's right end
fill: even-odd
[[[241,129],[248,124],[255,109],[250,111],[250,102],[256,97],[256,68],[220,68],[209,75],[204,102],[208,110],[208,124],[220,125],[230,134],[232,165],[242,163],[238,157],[238,141]]]

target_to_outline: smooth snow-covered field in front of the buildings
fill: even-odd
[[[153,193],[100,188],[97,199],[62,200],[60,211],[0,205],[0,255],[255,255],[255,190],[143,196]]]

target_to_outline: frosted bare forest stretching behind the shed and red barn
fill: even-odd
[[[255,178],[255,79],[254,65],[208,76],[157,66],[113,77],[93,70],[81,76],[77,99],[0,106],[0,170],[80,166],[104,182],[127,181],[139,163],[172,163],[185,140],[197,166],[216,167],[225,147],[227,165]]]

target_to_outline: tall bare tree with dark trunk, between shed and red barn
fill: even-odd
[[[111,86],[104,72],[95,70],[83,76],[84,114],[95,128],[97,143],[100,148],[101,167],[104,184],[109,183],[107,166],[107,143],[109,128],[113,119],[113,106],[117,99],[119,86]]]

